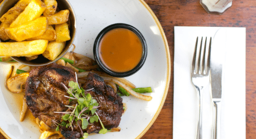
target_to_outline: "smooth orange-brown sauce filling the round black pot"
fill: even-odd
[[[115,72],[126,72],[140,62],[143,47],[140,38],[126,28],[115,28],[106,33],[99,46],[103,64]]]

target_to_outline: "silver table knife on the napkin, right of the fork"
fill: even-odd
[[[220,28],[216,32],[211,45],[211,92],[214,102],[214,124],[212,138],[220,139],[221,91],[222,91],[222,62],[225,59],[226,29]]]

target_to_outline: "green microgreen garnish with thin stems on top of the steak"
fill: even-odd
[[[76,74],[77,78],[77,74]],[[102,126],[102,129],[100,130],[100,134],[105,134],[108,132],[107,129],[105,129],[103,123],[101,122],[99,115],[97,114],[97,109],[100,107],[97,100],[93,99],[90,93],[87,93],[87,91],[93,90],[93,88],[89,90],[84,90],[83,88],[79,87],[78,81],[73,82],[70,81],[68,84],[68,87],[66,87],[65,84],[61,83],[63,87],[67,90],[69,93],[69,96],[64,95],[64,97],[68,98],[69,101],[75,101],[76,105],[65,105],[68,107],[71,111],[66,112],[55,112],[55,113],[61,113],[63,114],[61,119],[62,123],[59,124],[55,121],[56,131],[59,130],[59,126],[63,126],[66,128],[71,127],[71,130],[73,130],[73,126],[78,123],[78,121],[81,121],[81,127],[79,124],[79,129],[81,131],[82,137],[80,139],[84,139],[88,137],[88,133],[83,133],[82,129],[86,129],[87,126],[90,123],[98,122],[100,121],[100,124]],[[89,123],[90,122],[90,123]]]

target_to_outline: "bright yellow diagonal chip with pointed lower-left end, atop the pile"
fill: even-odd
[[[45,9],[45,4],[40,0],[31,0],[24,11],[20,13],[20,15],[14,20],[12,24],[10,24],[10,27],[18,27],[26,24],[27,22],[35,20],[41,16]]]

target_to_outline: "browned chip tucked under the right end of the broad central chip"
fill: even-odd
[[[0,31],[1,31],[1,28],[0,28]],[[55,40],[56,38],[57,38],[57,36],[56,36],[55,29],[51,25],[49,25],[44,34],[42,34],[41,36],[29,38],[27,40],[46,39],[46,40],[51,41],[51,40]]]

